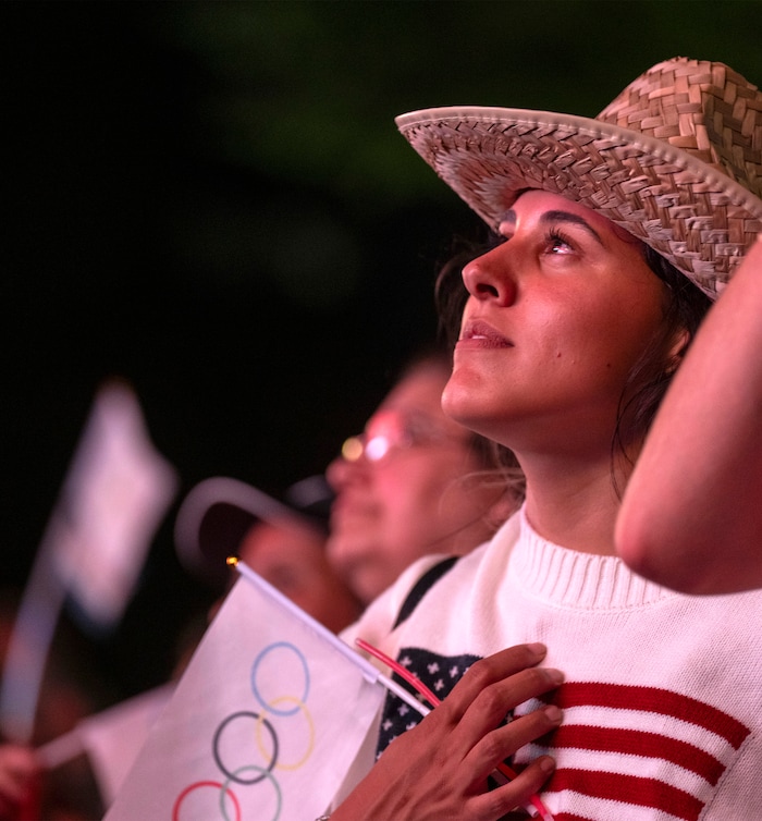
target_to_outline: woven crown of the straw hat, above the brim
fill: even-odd
[[[595,119],[668,143],[762,196],[762,94],[724,63],[657,63]]]

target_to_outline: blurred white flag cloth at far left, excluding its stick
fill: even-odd
[[[123,382],[97,394],[50,519],[48,541],[64,589],[99,627],[122,616],[153,534],[176,489]]]

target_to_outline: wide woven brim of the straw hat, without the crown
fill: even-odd
[[[651,245],[713,298],[762,231],[762,200],[637,131],[573,114],[480,106],[423,109],[395,122],[491,229],[521,191],[560,194]]]

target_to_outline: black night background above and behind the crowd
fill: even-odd
[[[647,68],[762,83],[762,3],[5,2],[2,587],[21,588],[94,393],[134,385],[181,479],[322,470],[434,332],[476,219],[397,134],[416,108],[593,117]],[[120,629],[114,697],[167,675],[211,593],[170,511]]]

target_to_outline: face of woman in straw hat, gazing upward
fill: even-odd
[[[665,286],[631,235],[557,195],[523,194],[500,234],[464,269],[445,413],[519,457],[607,453],[626,377],[663,321]]]

